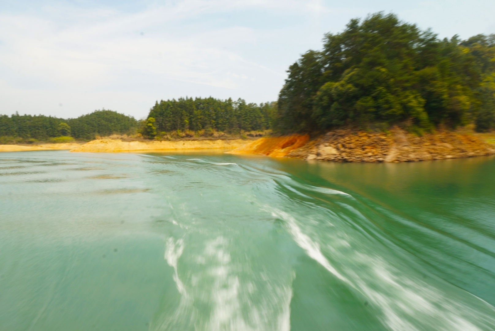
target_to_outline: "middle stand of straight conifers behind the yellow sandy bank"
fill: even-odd
[[[176,130],[259,131],[273,126],[274,115],[273,103],[256,105],[247,104],[242,99],[232,101],[211,97],[162,100],[149,111],[145,131],[148,136]]]

